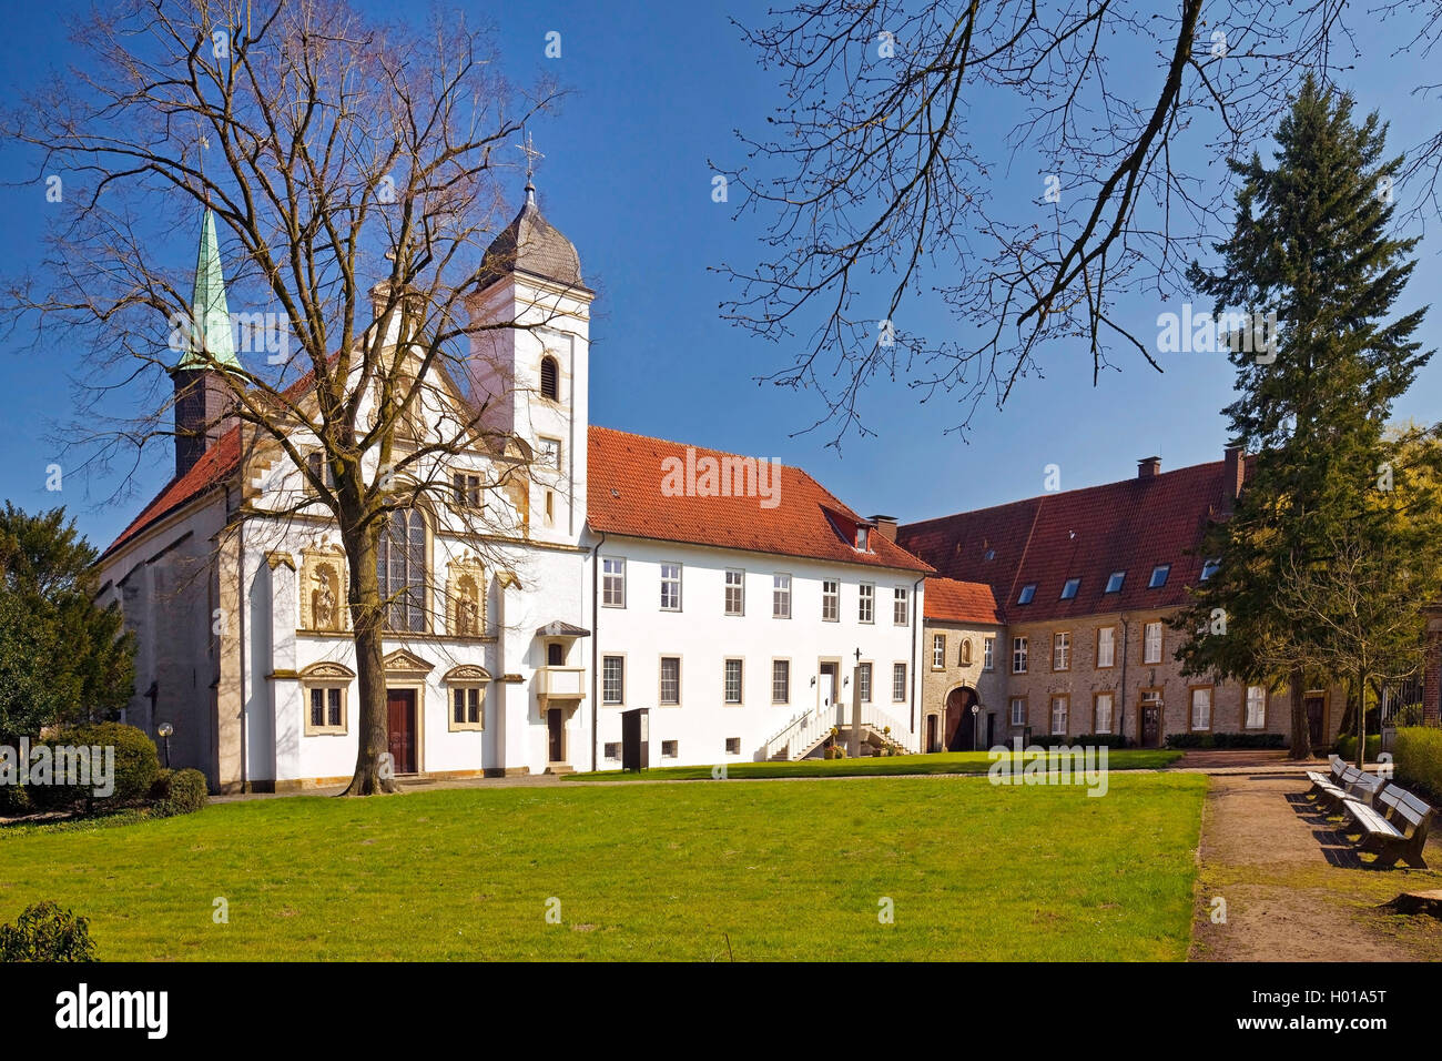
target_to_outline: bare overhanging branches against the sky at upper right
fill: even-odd
[[[786,100],[766,136],[738,133],[746,165],[712,163],[741,189],[738,212],[769,224],[758,264],[718,267],[735,290],[724,315],[796,344],[766,378],[818,391],[812,427],[832,424],[832,445],[867,433],[858,398],[878,374],[923,401],[953,396],[965,430],[982,400],[999,407],[1041,371],[1047,344],[1086,344],[1093,383],[1118,349],[1161,371],[1119,300],[1187,290],[1187,263],[1227,230],[1217,162],[1270,133],[1302,69],[1324,85],[1351,69],[1344,13],[1344,0],[810,0],[743,27]],[[1389,61],[1425,62],[1435,4],[1363,17],[1379,13],[1410,27]],[[1417,209],[1436,206],[1439,163],[1442,134],[1405,173]],[[927,294],[963,338],[906,326]]]

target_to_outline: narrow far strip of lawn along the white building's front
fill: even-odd
[[[1184,752],[1131,748],[1107,752],[1107,769],[1162,769]],[[797,759],[795,762],[728,762],[727,778],[774,777],[893,777],[897,774],[985,774],[991,768],[986,752],[939,752],[934,755],[868,755],[859,759]],[[594,774],[567,774],[567,781],[709,781],[714,767],[656,767],[645,774],[603,769]]]

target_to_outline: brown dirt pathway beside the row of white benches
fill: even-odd
[[[1325,765],[1324,765],[1325,768]],[[1405,891],[1442,888],[1433,869],[1374,870],[1304,798],[1295,768],[1213,774],[1201,820],[1191,959],[1198,961],[1436,961],[1442,922],[1379,909]],[[1226,922],[1214,922],[1214,899]]]

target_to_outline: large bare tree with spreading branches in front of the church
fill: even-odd
[[[7,316],[36,344],[91,352],[74,442],[92,471],[125,462],[128,479],[146,443],[172,436],[169,374],[186,349],[224,385],[245,446],[298,469],[304,489],[268,504],[319,507],[345,549],[360,699],[348,794],[388,791],[382,637],[404,602],[382,599],[378,550],[392,514],[424,498],[479,518],[451,504],[451,455],[496,458],[467,491],[529,475],[529,452],[487,426],[496,396],[467,385],[469,358],[487,332],[544,325],[545,307],[482,319],[467,300],[506,264],[483,256],[505,218],[500,159],[558,91],[508,84],[454,12],[408,27],[345,0],[121,0],[74,39],[68,77],[6,120],[66,182],[48,260],[10,286]],[[232,300],[278,322],[244,364],[190,319],[189,268],[157,251],[202,209],[224,232]]]

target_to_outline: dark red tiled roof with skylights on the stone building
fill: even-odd
[[[1229,511],[1226,462],[1217,460],[904,524],[897,541],[947,577],[989,585],[1007,621],[1050,621],[1185,603],[1204,560],[1188,550]],[[1167,583],[1148,589],[1164,563]],[[1105,592],[1112,572],[1126,572],[1119,593]],[[1077,593],[1063,601],[1073,577]],[[1032,601],[1018,605],[1028,585]]]

